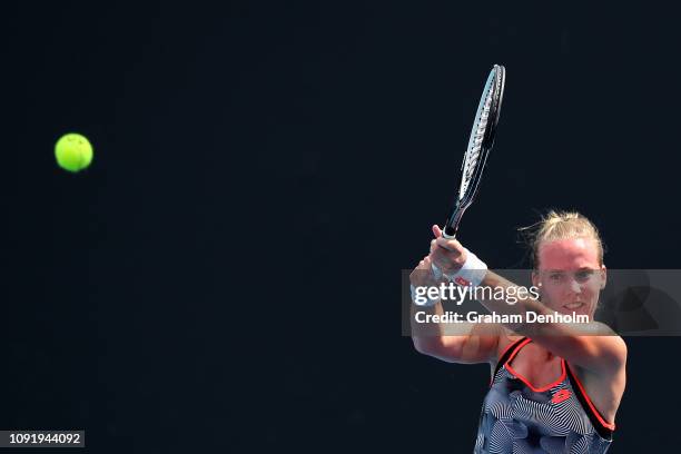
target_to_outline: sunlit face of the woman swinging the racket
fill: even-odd
[[[556,239],[540,245],[539,269],[532,274],[532,283],[549,308],[593,317],[605,278],[594,239]]]

